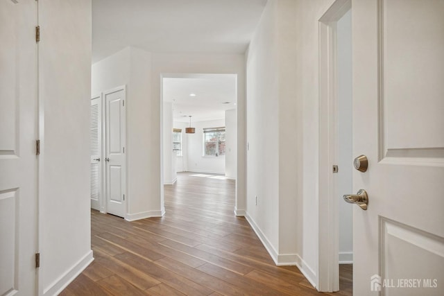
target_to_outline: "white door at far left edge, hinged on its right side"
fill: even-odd
[[[0,295],[35,295],[36,2],[0,1]]]

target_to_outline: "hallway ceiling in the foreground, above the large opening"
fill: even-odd
[[[266,0],[93,0],[92,59],[126,46],[162,53],[244,53]]]

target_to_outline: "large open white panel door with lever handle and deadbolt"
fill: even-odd
[[[352,2],[355,295],[443,295],[443,16],[443,0]]]

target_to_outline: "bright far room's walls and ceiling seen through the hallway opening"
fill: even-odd
[[[162,187],[183,172],[236,182],[237,74],[163,74],[161,84]]]

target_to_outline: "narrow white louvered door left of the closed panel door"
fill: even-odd
[[[101,185],[102,185],[102,96],[94,96],[91,99],[91,207],[97,211],[101,208]]]

